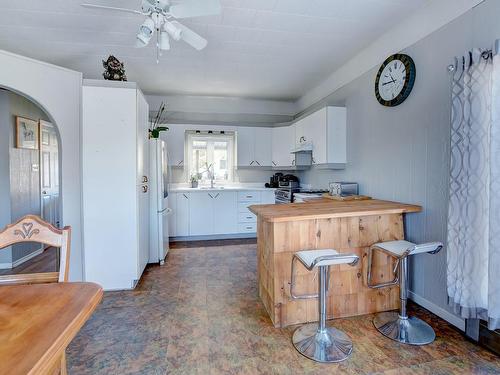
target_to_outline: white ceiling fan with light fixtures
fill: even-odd
[[[135,46],[146,47],[156,32],[156,63],[161,51],[170,49],[170,39],[183,40],[197,50],[208,44],[207,40],[175,19],[220,14],[219,0],[142,0],[141,9],[117,8],[97,4],[81,4],[86,8],[97,8],[146,16],[139,27]]]

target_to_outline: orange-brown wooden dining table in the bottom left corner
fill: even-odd
[[[94,283],[0,286],[0,374],[66,374],[66,347],[101,299]]]

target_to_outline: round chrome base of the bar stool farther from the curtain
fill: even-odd
[[[325,327],[321,331],[317,323],[297,328],[293,333],[292,342],[300,354],[317,362],[341,362],[352,353],[352,341],[349,336],[333,327]]]

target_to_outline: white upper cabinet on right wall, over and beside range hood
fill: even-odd
[[[346,109],[325,107],[295,123],[295,145],[312,145],[313,164],[344,168],[346,152]]]

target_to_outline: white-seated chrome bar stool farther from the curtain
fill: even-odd
[[[319,293],[295,295],[295,263],[300,261],[311,271],[318,267]],[[352,352],[352,341],[344,332],[326,326],[326,294],[329,281],[329,269],[335,264],[350,264],[354,266],[359,258],[354,254],[339,254],[333,249],[304,250],[296,252],[292,258],[292,275],[290,295],[293,299],[319,298],[319,322],[303,325],[295,330],[292,337],[295,349],[302,355],[317,362],[340,362],[349,357]]]

